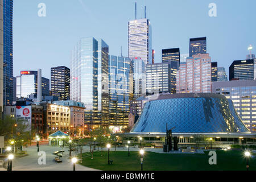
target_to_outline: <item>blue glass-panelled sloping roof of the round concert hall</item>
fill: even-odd
[[[248,133],[232,100],[221,94],[163,94],[150,100],[130,133]]]

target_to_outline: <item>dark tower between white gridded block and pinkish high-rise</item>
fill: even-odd
[[[162,50],[162,63],[170,63],[170,93],[176,93],[176,75],[180,66],[180,48]]]

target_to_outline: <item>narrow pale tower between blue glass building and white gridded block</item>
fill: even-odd
[[[140,57],[131,58],[133,69],[133,100],[146,96],[146,65]]]

